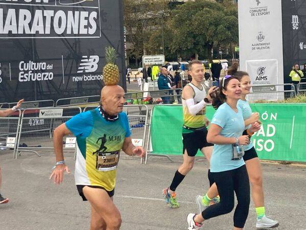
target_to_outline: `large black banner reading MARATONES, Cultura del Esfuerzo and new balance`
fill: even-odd
[[[120,0],[0,0],[0,102],[99,95],[108,45],[126,88],[123,42]]]

